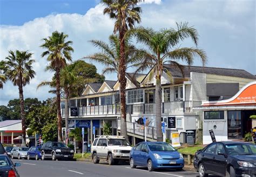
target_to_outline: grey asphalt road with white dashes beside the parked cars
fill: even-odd
[[[20,162],[21,167],[17,167],[21,177],[167,177],[167,176],[197,176],[198,173],[187,171],[158,170],[148,172],[146,168],[131,169],[129,164],[109,166],[107,164],[91,164],[89,162],[78,161],[35,161],[35,160],[13,160]]]

